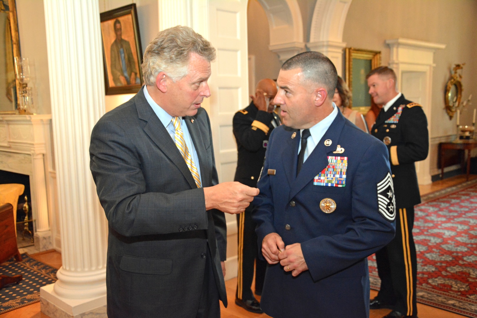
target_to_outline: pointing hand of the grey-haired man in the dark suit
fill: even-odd
[[[206,210],[218,209],[229,214],[242,213],[259,192],[257,188],[236,181],[206,187],[204,188]]]

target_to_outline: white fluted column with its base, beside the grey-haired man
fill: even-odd
[[[41,288],[41,311],[106,317],[107,222],[89,169],[91,130],[105,109],[99,5],[44,0],[44,6],[62,267],[58,281]]]

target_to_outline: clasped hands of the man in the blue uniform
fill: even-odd
[[[285,246],[278,233],[270,233],[263,238],[262,254],[269,264],[277,264],[283,266],[285,272],[290,272],[293,277],[298,276],[301,272],[308,270],[301,244],[295,243]]]

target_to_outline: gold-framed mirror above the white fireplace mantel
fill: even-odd
[[[16,56],[20,57],[20,41],[15,0],[0,0],[0,114],[16,113]]]

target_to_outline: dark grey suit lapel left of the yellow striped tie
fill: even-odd
[[[156,113],[154,113],[151,105],[147,103],[142,88],[135,96],[135,104],[138,118],[145,121],[145,125],[143,127],[144,132],[171,160],[171,162],[177,166],[191,188],[197,188],[196,182],[194,181],[194,178],[192,177],[184,158],[182,158],[182,155],[177,149],[176,144],[167,132],[166,127],[164,127],[162,122],[156,116]]]

